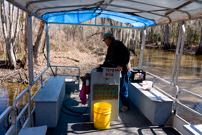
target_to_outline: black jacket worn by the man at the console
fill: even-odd
[[[112,40],[107,50],[105,62],[112,61],[114,66],[118,65],[123,67],[123,72],[127,72],[126,65],[130,60],[130,52],[128,48],[118,40]]]

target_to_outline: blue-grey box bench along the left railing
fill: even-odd
[[[57,126],[58,117],[65,96],[65,77],[50,77],[35,97],[35,126]]]

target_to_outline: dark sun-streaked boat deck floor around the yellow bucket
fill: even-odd
[[[178,135],[179,133],[172,127],[153,126],[149,120],[135,107],[130,104],[127,112],[120,112],[117,121],[110,122],[110,128],[107,130],[98,130],[94,128],[93,122],[90,122],[88,115],[89,109],[86,111],[87,105],[81,105],[79,93],[68,93],[65,96],[64,104],[60,112],[58,124],[56,128],[48,128],[47,135]],[[85,114],[72,113],[67,110],[71,109],[77,112],[85,112]],[[149,110],[148,110],[149,111]],[[79,115],[79,116],[72,116]]]

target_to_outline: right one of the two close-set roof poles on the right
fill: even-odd
[[[186,29],[183,24],[182,25],[182,41],[181,41],[181,46],[180,46],[180,54],[179,54],[179,60],[178,60],[178,65],[177,65],[177,71],[176,71],[176,75],[175,75],[175,84],[176,85],[178,83],[178,74],[179,74],[179,70],[180,70],[180,63],[181,63],[182,53],[183,53],[183,49],[184,49],[185,33],[186,33]]]

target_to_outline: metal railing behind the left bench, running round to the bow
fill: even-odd
[[[79,77],[80,77],[80,68],[77,66],[51,66],[51,67],[55,67],[55,75],[62,75],[62,76],[73,76],[73,77],[77,77],[78,79],[78,83],[79,83]],[[11,134],[17,134],[18,132],[18,127],[17,127],[17,122],[20,120],[20,118],[23,116],[23,114],[27,111],[28,113],[28,117],[25,120],[22,128],[24,127],[31,127],[33,126],[33,119],[32,119],[32,114],[35,111],[35,107],[31,108],[31,103],[34,100],[35,96],[38,94],[38,92],[41,90],[41,88],[43,88],[43,86],[45,85],[45,83],[47,82],[47,80],[49,79],[50,75],[48,75],[45,80],[43,80],[43,75],[46,73],[46,71],[51,68],[51,67],[47,67],[45,68],[32,82],[32,84],[29,85],[28,88],[24,89],[15,99],[13,102],[12,106],[9,106],[6,108],[6,110],[0,115],[0,123],[5,119],[6,116],[8,116],[10,114],[11,116],[11,126],[9,127],[9,129],[6,132],[6,135],[11,135]],[[58,68],[76,68],[78,70],[77,74],[73,75],[73,74],[58,74],[57,70]],[[38,89],[36,90],[36,92],[33,94],[33,96],[31,97],[31,89],[32,86],[36,83],[39,82],[40,80],[40,85],[38,87]],[[22,110],[20,111],[20,113],[17,115],[17,103],[18,101],[23,98],[27,93],[27,104],[22,108]]]

